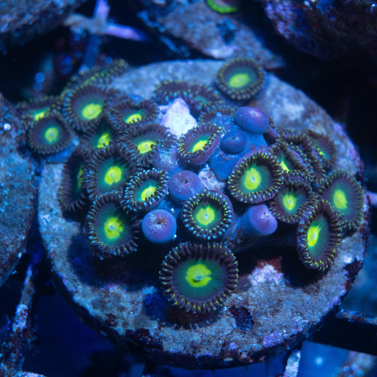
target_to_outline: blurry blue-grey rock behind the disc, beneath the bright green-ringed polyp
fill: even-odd
[[[134,6],[135,1],[129,1]],[[234,13],[218,13],[204,0],[152,1],[140,0],[137,16],[158,34],[161,42],[180,57],[199,51],[214,59],[243,56],[255,59],[265,69],[284,66],[279,47],[261,38],[260,18]],[[226,1],[224,2],[226,3]],[[252,13],[252,11],[250,11]],[[262,15],[263,16],[263,15]]]

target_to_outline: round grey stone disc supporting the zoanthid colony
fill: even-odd
[[[151,98],[163,80],[210,85],[220,66],[214,61],[151,64],[127,72],[112,86]],[[337,168],[361,173],[359,155],[342,128],[301,91],[269,75],[265,92],[253,106],[267,112],[275,124],[325,132],[336,141]],[[236,291],[214,314],[198,317],[172,306],[161,291],[158,271],[171,246],[152,249],[145,244],[122,258],[93,257],[82,224],[65,218],[59,207],[62,168],[46,164],[39,199],[40,232],[60,288],[88,325],[161,364],[188,369],[240,366],[294,347],[337,307],[364,259],[369,234],[366,198],[359,228],[342,238],[325,274],[303,266],[295,243],[279,233],[279,224],[273,238],[258,238],[236,253]]]

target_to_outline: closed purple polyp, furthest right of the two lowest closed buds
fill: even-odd
[[[269,236],[277,230],[277,219],[265,204],[249,207],[240,218],[240,227],[250,236]]]

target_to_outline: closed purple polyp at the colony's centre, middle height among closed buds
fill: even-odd
[[[199,175],[190,170],[180,170],[174,173],[168,182],[170,199],[176,204],[182,204],[203,189]]]

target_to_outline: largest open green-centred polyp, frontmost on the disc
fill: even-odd
[[[236,257],[222,243],[180,243],[163,260],[160,280],[175,306],[207,313],[236,289],[237,267]]]

